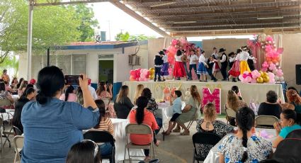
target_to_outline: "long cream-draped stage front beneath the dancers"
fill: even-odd
[[[167,86],[170,88],[176,87],[182,91],[182,100],[185,97],[185,92],[190,88],[191,85],[196,85],[200,93],[201,98],[203,97],[202,90],[207,87],[212,92],[215,88],[221,89],[221,106],[222,113],[225,113],[225,103],[227,101],[227,92],[232,88],[232,86],[239,86],[242,92],[242,97],[244,101],[249,106],[250,100],[254,99],[255,103],[261,103],[266,101],[266,93],[270,90],[276,91],[278,97],[284,101],[283,87],[281,84],[245,84],[242,82],[229,82],[229,81],[217,81],[217,82],[200,82],[200,81],[125,81],[123,84],[130,87],[129,97],[132,100],[135,96],[135,91],[138,84],[143,84],[144,88],[147,87],[151,89],[152,96],[157,100],[161,101],[163,99],[163,89]]]

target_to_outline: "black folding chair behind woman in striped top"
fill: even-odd
[[[89,130],[87,133],[84,133],[84,139],[93,140],[96,143],[110,142],[112,145],[111,153],[107,155],[101,155],[101,159],[109,159],[110,163],[115,163],[115,140],[113,135],[110,135],[110,133],[107,131]]]

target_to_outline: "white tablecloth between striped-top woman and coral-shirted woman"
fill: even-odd
[[[125,154],[125,126],[129,123],[129,120],[127,119],[117,119],[117,118],[111,118],[112,123],[113,123],[113,128],[114,128],[114,138],[115,138],[115,147],[116,147],[116,152],[115,152],[115,161],[116,162],[121,162],[124,159],[124,154]],[[144,156],[143,150],[130,150],[131,155],[135,156]],[[126,159],[128,154],[125,155]],[[140,159],[144,159],[143,157]],[[106,160],[103,160],[105,162]]]

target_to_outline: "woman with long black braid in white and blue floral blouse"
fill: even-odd
[[[240,108],[236,115],[238,131],[227,135],[218,148],[220,163],[260,162],[273,153],[272,143],[262,137],[252,136],[255,130],[255,115],[251,108]]]

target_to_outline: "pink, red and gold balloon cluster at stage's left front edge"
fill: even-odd
[[[130,70],[130,81],[149,81],[154,79],[154,68]]]

